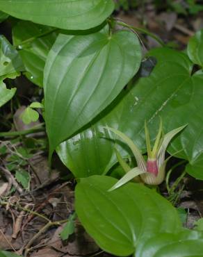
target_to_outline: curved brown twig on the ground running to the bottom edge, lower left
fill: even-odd
[[[33,244],[33,242],[35,242],[35,240],[37,240],[40,237],[40,235],[42,235],[42,233],[46,232],[51,226],[60,226],[61,224],[68,222],[68,221],[69,221],[69,219],[63,219],[63,220],[59,220],[58,222],[48,222],[45,226],[43,226],[42,229],[40,229],[40,231],[38,231],[38,233],[36,233],[33,236],[33,238],[31,238],[31,240],[26,245],[25,257],[27,256],[29,251],[31,251],[30,247]]]

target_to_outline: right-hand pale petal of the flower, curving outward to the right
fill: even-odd
[[[172,140],[172,138],[174,138],[175,135],[177,135],[177,133],[179,133],[180,131],[182,131],[186,126],[188,126],[188,124],[184,125],[184,126],[180,126],[179,128],[175,128],[172,131],[168,132],[166,135],[164,135],[163,138],[163,142],[161,144],[161,147],[159,149],[159,153],[158,153],[158,167],[160,168],[161,165],[164,162],[165,159],[165,151],[168,147],[168,144],[170,143],[170,141]]]

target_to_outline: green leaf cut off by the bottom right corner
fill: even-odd
[[[203,233],[184,230],[180,233],[161,233],[149,239],[136,257],[197,257],[203,256]]]

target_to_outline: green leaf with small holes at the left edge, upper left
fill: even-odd
[[[8,78],[11,74],[23,70],[19,53],[3,35],[0,35],[0,78]]]

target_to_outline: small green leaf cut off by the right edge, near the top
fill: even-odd
[[[203,30],[198,31],[190,38],[187,53],[193,63],[203,67]]]

